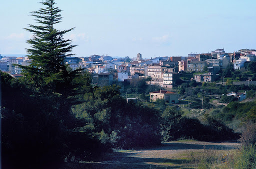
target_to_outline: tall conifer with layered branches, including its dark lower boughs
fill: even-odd
[[[49,109],[61,121],[69,122],[71,106],[83,101],[82,94],[91,89],[90,74],[81,69],[70,70],[65,64],[65,57],[72,55],[70,51],[76,45],[63,35],[73,28],[57,30],[55,25],[61,22],[61,10],[54,7],[54,0],[40,3],[45,7],[31,12],[38,25],[28,24],[29,28],[25,28],[33,33],[33,37],[27,40],[31,44],[26,49],[31,62],[29,66],[20,66],[24,74],[21,80],[31,96],[50,100]]]

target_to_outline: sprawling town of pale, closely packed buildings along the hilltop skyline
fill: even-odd
[[[133,93],[131,96],[135,98],[138,98],[138,94],[141,96],[142,92],[138,92],[137,88],[135,91],[132,86],[127,90],[125,86],[138,83],[138,81],[140,81],[140,87],[144,84],[155,86],[154,88],[151,87],[151,89],[158,89],[158,93],[161,93],[159,89],[162,89],[162,92],[164,90],[177,91],[179,95],[175,96],[178,97],[175,100],[167,99],[164,95],[158,98],[164,98],[165,102],[178,103],[178,99],[184,98],[182,87],[186,86],[186,83],[191,82],[191,80],[201,82],[201,84],[203,82],[214,82],[222,85],[226,83],[236,85],[255,84],[253,80],[256,79],[256,74],[253,74],[253,71],[250,71],[251,74],[242,73],[255,67],[255,54],[255,49],[239,49],[236,52],[225,52],[224,48],[215,49],[210,53],[189,53],[186,57],[159,56],[143,58],[141,53],[137,53],[133,58],[128,56],[114,58],[109,55],[93,54],[88,57],[65,57],[65,64],[68,64],[72,70],[84,69],[90,72],[93,85],[117,84],[121,86],[123,93]],[[0,70],[9,73],[13,77],[22,76],[22,69],[18,64],[23,66],[30,64],[28,56],[0,56],[0,58]],[[148,89],[144,94],[149,96],[149,92],[154,91]],[[215,94],[215,98],[219,98],[219,94],[233,95],[240,101],[246,98],[246,91],[238,92],[237,89],[236,91],[226,91],[226,93],[213,93],[212,91],[208,93]],[[124,96],[127,97],[127,94]],[[144,97],[142,97],[142,100],[146,100]],[[151,93],[150,99],[155,101],[157,97],[154,97]]]

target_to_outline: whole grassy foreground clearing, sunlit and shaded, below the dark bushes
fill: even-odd
[[[95,161],[63,168],[226,168],[237,143],[171,141],[148,149],[117,149]]]

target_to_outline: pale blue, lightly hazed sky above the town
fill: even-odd
[[[40,0],[1,0],[0,54],[25,54]],[[75,56],[142,58],[256,49],[256,0],[55,0]]]

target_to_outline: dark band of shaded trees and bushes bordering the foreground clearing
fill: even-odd
[[[81,76],[81,82],[87,75]],[[67,113],[59,107],[67,100],[59,99],[58,94],[35,96],[22,79],[5,73],[1,73],[1,84],[2,151],[7,164],[52,165],[64,159],[90,159],[111,147],[146,147],[178,138],[237,138],[231,129],[210,116],[202,123],[183,117],[175,106],[161,111],[127,103],[114,85],[92,88],[88,83],[81,84],[83,93],[77,98],[82,103],[69,104]]]

